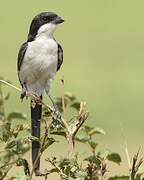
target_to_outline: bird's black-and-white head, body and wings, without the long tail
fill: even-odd
[[[49,92],[50,82],[63,62],[63,50],[53,38],[53,33],[63,19],[55,13],[37,15],[30,26],[28,40],[22,44],[18,54],[18,76],[23,98],[34,93],[41,96]]]

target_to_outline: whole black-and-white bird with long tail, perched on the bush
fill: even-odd
[[[40,99],[44,92],[50,95],[51,81],[63,63],[62,46],[53,34],[63,22],[64,19],[54,12],[42,12],[32,19],[27,40],[21,45],[17,58],[18,78],[22,87],[21,100],[30,94]],[[32,104],[31,98],[31,133],[40,138],[42,104]],[[32,163],[36,176],[40,173],[40,158],[37,158],[39,150],[40,143],[32,141]]]

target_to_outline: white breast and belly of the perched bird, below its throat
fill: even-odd
[[[41,95],[57,70],[58,46],[53,38],[45,36],[28,43],[20,70],[20,79],[26,82],[28,91]]]

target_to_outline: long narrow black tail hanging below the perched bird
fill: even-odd
[[[42,96],[40,97],[42,99]],[[42,104],[34,103],[31,100],[31,128],[32,136],[40,138],[40,122],[42,116]],[[40,150],[40,143],[38,141],[32,141],[32,163],[34,166],[35,175],[40,171],[40,158],[38,158]]]

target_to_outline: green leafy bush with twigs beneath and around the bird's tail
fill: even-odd
[[[63,82],[63,81],[62,81]],[[86,103],[79,102],[71,93],[64,93],[61,98],[57,98],[56,104],[60,114],[55,114],[53,108],[42,102],[34,95],[30,95],[43,104],[43,133],[40,139],[30,135],[30,127],[26,123],[26,116],[21,112],[10,112],[6,115],[5,102],[9,100],[10,94],[4,94],[2,83],[0,83],[0,179],[7,180],[31,180],[34,176],[34,167],[30,167],[30,160],[24,157],[25,153],[31,149],[32,141],[40,142],[39,157],[45,158],[47,165],[41,164],[43,171],[39,174],[41,179],[49,179],[49,175],[56,173],[59,179],[81,179],[81,180],[143,180],[144,172],[139,172],[143,159],[139,160],[139,152],[133,157],[130,164],[130,171],[125,176],[110,177],[109,163],[113,162],[121,165],[121,157],[118,153],[99,151],[99,143],[95,141],[95,135],[105,135],[101,128],[88,126],[86,120],[89,113],[86,110]],[[75,110],[72,118],[66,116],[66,109]],[[13,126],[18,120],[18,125]],[[24,123],[25,122],[25,123]],[[47,150],[50,146],[55,146],[57,136],[66,139],[68,143],[67,155],[61,157],[48,156]],[[75,152],[77,142],[88,146],[90,154],[83,156],[81,152]],[[43,156],[42,156],[43,155]],[[38,159],[36,158],[36,159]],[[128,155],[129,158],[129,155]],[[50,167],[51,165],[51,167]],[[9,176],[9,171],[14,166],[23,166],[23,171]],[[119,173],[114,173],[119,174]]]

